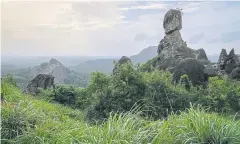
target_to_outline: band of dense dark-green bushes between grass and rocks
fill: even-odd
[[[166,118],[171,112],[184,111],[190,103],[200,104],[213,112],[235,114],[240,111],[240,82],[226,77],[213,77],[208,87],[193,87],[187,75],[180,83],[172,84],[168,71],[142,72],[128,62],[117,65],[112,75],[91,74],[87,88],[58,86],[55,91],[42,92],[48,97],[72,108],[87,111],[88,120],[108,118],[110,112],[121,113],[141,107],[142,116]]]

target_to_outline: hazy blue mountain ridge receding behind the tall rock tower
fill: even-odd
[[[139,54],[130,56],[129,58],[134,64],[145,63],[149,59],[152,59],[157,55],[157,46],[150,46],[143,49]],[[119,57],[120,58],[120,57]],[[119,59],[118,58],[118,59]],[[77,66],[69,67],[79,73],[91,73],[94,71],[100,71],[103,73],[111,73],[114,67],[114,61],[118,59],[96,59],[82,62]]]

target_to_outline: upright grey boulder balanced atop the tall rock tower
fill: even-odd
[[[170,9],[164,16],[163,28],[166,34],[182,29],[182,13],[180,10]]]

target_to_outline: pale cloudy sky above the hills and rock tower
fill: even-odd
[[[208,55],[240,53],[240,2],[3,1],[2,56],[130,56],[164,37],[163,18],[183,12],[182,38]],[[157,53],[157,52],[156,52]]]

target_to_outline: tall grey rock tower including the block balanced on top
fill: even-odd
[[[163,21],[165,36],[158,45],[158,59],[154,61],[156,69],[171,69],[187,58],[198,59],[208,64],[204,49],[194,50],[187,47],[181,37],[182,15],[180,10],[169,10]]]

